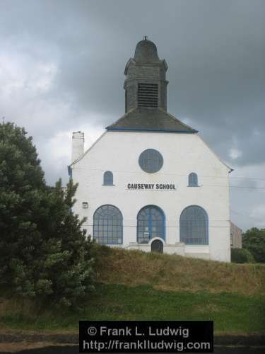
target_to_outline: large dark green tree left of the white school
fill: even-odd
[[[75,306],[93,286],[90,238],[71,211],[77,185],[46,185],[32,138],[0,125],[0,285]]]

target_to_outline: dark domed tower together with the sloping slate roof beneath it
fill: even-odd
[[[167,113],[167,63],[158,57],[155,43],[145,36],[137,43],[124,74],[125,114],[107,130],[196,133],[197,130]]]

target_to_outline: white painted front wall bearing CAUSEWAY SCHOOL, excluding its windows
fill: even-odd
[[[163,155],[164,164],[157,173],[141,170],[138,160],[145,149],[157,149]],[[108,170],[114,175],[113,186],[102,185]],[[123,215],[123,246],[131,248],[130,243],[136,242],[139,210],[158,205],[165,213],[168,248],[164,251],[172,253],[170,245],[179,242],[182,210],[199,205],[208,214],[209,245],[184,246],[184,253],[230,261],[229,171],[196,134],[108,131],[72,165],[73,181],[79,183],[73,210],[88,218],[84,227],[92,235],[95,210],[100,205],[115,205]],[[187,187],[191,172],[198,174],[199,187]],[[128,183],[174,183],[177,190],[128,190]],[[88,202],[88,209],[82,208],[82,202]]]

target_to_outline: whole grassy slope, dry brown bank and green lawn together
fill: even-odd
[[[213,319],[215,333],[265,333],[265,266],[95,247],[96,290],[81,313],[0,299],[0,325],[77,331],[79,319]]]

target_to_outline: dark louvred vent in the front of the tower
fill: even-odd
[[[158,84],[138,84],[138,106],[158,107]]]

